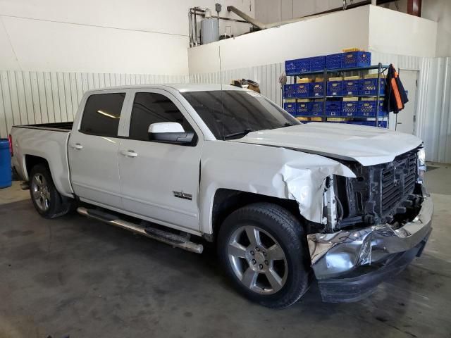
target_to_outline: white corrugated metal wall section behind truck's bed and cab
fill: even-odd
[[[0,137],[13,125],[73,120],[85,91],[125,84],[187,82],[185,76],[0,71]]]

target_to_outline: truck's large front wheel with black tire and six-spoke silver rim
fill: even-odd
[[[268,308],[292,305],[309,287],[304,230],[276,204],[249,204],[228,215],[219,230],[218,255],[236,289]]]

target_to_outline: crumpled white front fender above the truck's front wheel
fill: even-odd
[[[238,142],[205,142],[199,196],[201,232],[212,233],[211,211],[218,189],[234,189],[297,201],[314,223],[323,218],[326,177],[355,177],[342,163],[302,151]]]

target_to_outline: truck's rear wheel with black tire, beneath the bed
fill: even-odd
[[[47,165],[37,164],[30,171],[30,196],[39,215],[56,218],[73,209],[74,201],[56,190]]]

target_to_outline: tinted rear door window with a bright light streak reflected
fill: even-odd
[[[80,132],[99,136],[118,136],[125,93],[94,94],[86,101]]]

